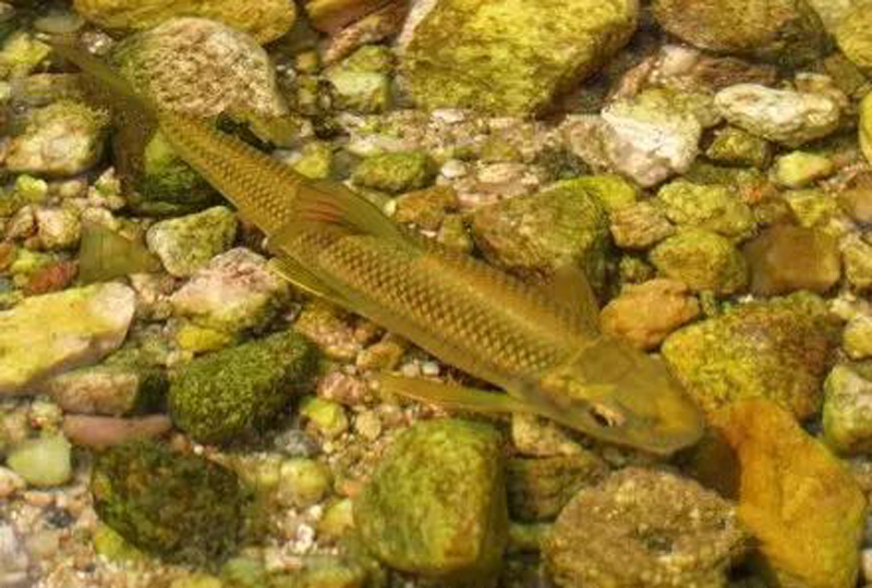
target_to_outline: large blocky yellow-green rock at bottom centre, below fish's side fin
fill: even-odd
[[[391,567],[494,585],[508,539],[499,434],[455,419],[412,426],[356,497],[354,520]]]

